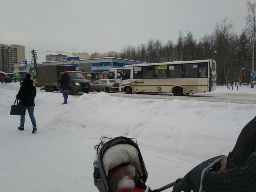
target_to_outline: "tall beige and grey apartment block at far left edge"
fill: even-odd
[[[25,61],[25,46],[0,44],[0,71],[13,73],[19,61]]]

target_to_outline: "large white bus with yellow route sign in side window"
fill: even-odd
[[[120,91],[128,94],[148,92],[182,96],[214,90],[214,60],[125,65],[120,78]]]

